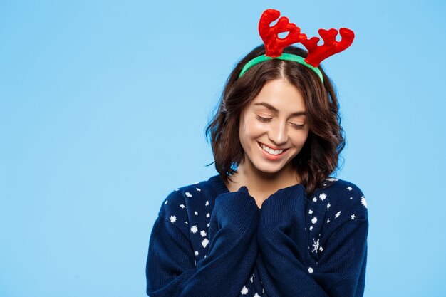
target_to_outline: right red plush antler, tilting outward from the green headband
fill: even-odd
[[[323,39],[322,46],[318,46],[318,37],[312,37],[311,39],[301,41],[308,50],[308,56],[305,58],[305,61],[314,67],[317,67],[321,61],[329,56],[333,56],[335,53],[340,53],[348,48],[348,46],[353,43],[353,38],[355,38],[355,33],[348,28],[339,29],[339,33],[342,37],[339,42],[336,41],[336,35],[338,35],[338,30],[336,29],[330,29],[328,31],[319,29],[318,33]]]

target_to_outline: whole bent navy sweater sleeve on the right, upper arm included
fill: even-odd
[[[367,219],[346,221],[324,242],[316,261],[308,251],[302,185],[266,199],[258,229],[257,265],[268,296],[362,296]]]

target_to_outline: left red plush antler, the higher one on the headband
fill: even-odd
[[[276,9],[266,9],[261,14],[259,21],[259,33],[264,41],[266,53],[265,56],[276,58],[281,56],[286,46],[298,43],[306,39],[305,34],[301,34],[301,29],[295,24],[290,23],[286,16],[282,16],[277,24],[270,27],[269,25],[280,16],[280,11]],[[279,33],[289,31],[288,36],[279,38]],[[317,42],[316,42],[317,43]]]

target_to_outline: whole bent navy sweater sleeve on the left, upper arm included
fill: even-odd
[[[259,209],[247,193],[220,194],[209,222],[209,253],[197,262],[184,231],[158,217],[150,235],[147,295],[239,296],[257,256]]]

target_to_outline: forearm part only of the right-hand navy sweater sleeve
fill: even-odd
[[[269,297],[328,296],[304,265],[305,200],[296,199],[304,192],[300,184],[280,189],[262,204],[257,266]]]

